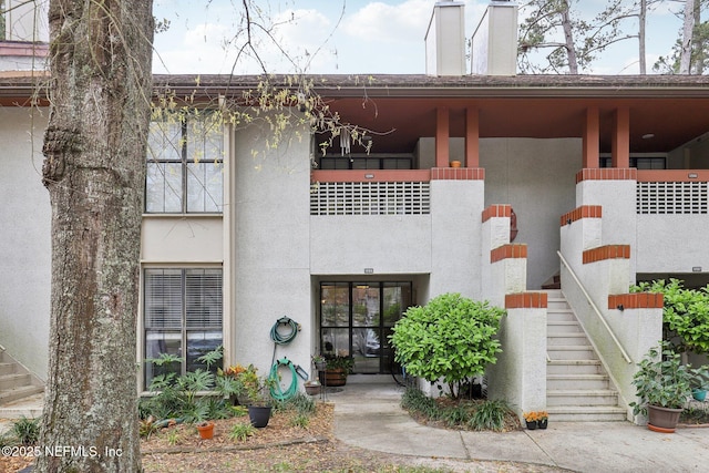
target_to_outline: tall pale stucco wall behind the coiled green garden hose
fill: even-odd
[[[234,361],[270,369],[271,326],[284,316],[301,323],[276,358],[310,366],[315,313],[310,286],[310,150],[294,140],[265,150],[266,127],[237,131],[234,163]],[[253,152],[258,152],[253,157]],[[264,154],[265,153],[265,154]],[[227,209],[225,209],[227,212]],[[287,383],[290,380],[284,380]]]

